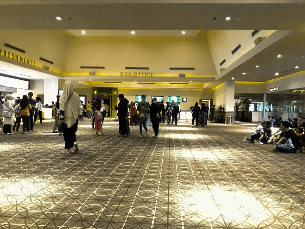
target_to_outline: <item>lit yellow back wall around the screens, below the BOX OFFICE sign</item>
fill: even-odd
[[[125,98],[135,101],[136,95],[147,95],[147,100],[151,103],[151,96],[164,96],[164,104],[168,101],[168,96],[180,96],[181,109],[190,109],[200,99],[213,100],[212,89],[131,89],[118,88],[118,94],[124,94]],[[182,98],[186,97],[187,102],[182,102]]]

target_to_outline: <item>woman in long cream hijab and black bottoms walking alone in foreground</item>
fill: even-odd
[[[78,125],[78,116],[82,113],[79,95],[74,92],[71,81],[66,81],[63,94],[59,99],[60,120],[63,122],[63,135],[65,140],[65,149],[67,153],[71,153],[74,147],[78,152],[76,144],[76,131]]]

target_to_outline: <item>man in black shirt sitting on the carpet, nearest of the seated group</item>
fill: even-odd
[[[273,152],[296,153],[299,139],[296,137],[294,131],[289,129],[291,125],[288,121],[282,122],[281,125],[283,126],[282,129],[285,131],[285,134],[277,142],[277,145],[273,148]],[[282,142],[286,142],[285,145],[279,145]]]

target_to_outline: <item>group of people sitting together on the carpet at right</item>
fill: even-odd
[[[245,137],[244,141],[274,144],[273,152],[296,153],[300,149],[300,152],[305,153],[305,118],[294,121],[281,121],[280,128],[275,132],[272,132],[271,121],[263,122],[252,131],[251,138]]]

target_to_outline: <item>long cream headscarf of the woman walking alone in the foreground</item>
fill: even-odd
[[[59,99],[59,104],[60,110],[65,111],[64,123],[66,123],[68,128],[70,128],[76,123],[78,116],[82,112],[79,95],[74,92],[71,81],[65,82],[63,94]]]

